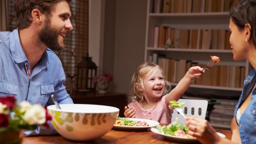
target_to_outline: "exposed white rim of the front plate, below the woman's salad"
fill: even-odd
[[[178,136],[172,136],[172,135],[168,135],[168,134],[161,134],[159,132],[158,129],[156,128],[151,128],[151,131],[152,132],[155,132],[157,134],[160,134],[162,135],[165,139],[167,140],[171,140],[171,141],[176,141],[176,142],[182,142],[182,143],[199,143],[199,141],[197,139],[190,139],[190,138],[183,138],[183,137],[178,137]],[[217,134],[220,136],[220,137],[223,137],[225,138],[226,136],[222,133],[219,133],[217,132]]]

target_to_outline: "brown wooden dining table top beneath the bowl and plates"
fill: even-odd
[[[164,124],[160,124],[164,125]],[[148,128],[146,130],[110,130],[102,137],[87,142],[71,141],[63,136],[33,136],[22,138],[22,144],[189,144],[165,139]],[[215,129],[231,140],[231,130]]]

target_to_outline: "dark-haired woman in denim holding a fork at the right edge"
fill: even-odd
[[[219,137],[207,120],[185,117],[189,134],[202,144],[256,144],[256,0],[241,0],[229,15],[233,58],[236,61],[248,60],[253,70],[244,80],[235,109],[231,141]]]

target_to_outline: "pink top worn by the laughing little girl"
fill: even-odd
[[[167,112],[164,96],[160,97],[159,101],[149,110],[144,110],[137,101],[130,102],[128,106],[135,108],[135,118],[155,120],[164,124],[171,123],[172,115],[170,116]]]

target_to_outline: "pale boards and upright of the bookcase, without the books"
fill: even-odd
[[[153,47],[153,31],[155,26],[168,26],[176,29],[228,29],[229,12],[214,13],[152,13],[153,0],[147,3],[146,39],[144,61],[153,53],[165,54],[166,58],[189,59],[200,64],[207,64],[210,56],[221,58],[219,65],[244,66],[245,75],[248,74],[249,62],[246,60],[235,61],[232,50],[219,49],[183,49],[183,48],[155,48]],[[218,64],[216,64],[218,65]],[[176,83],[173,83],[176,85]],[[222,89],[231,91],[242,91],[237,87],[222,86],[200,86],[191,85],[190,87]]]

